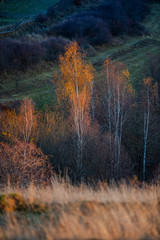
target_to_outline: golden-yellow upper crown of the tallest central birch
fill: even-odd
[[[58,83],[58,100],[79,98],[79,95],[91,96],[91,82],[94,69],[91,64],[86,64],[76,42],[66,47],[64,56],[60,56],[61,81]],[[83,102],[80,100],[80,102]]]

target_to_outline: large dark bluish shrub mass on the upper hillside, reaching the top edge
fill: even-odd
[[[75,4],[80,3],[81,1],[76,1]],[[110,40],[111,34],[116,36],[146,33],[145,28],[138,23],[146,13],[147,7],[141,0],[107,1],[97,5],[96,8],[90,7],[87,11],[69,17],[51,28],[49,34],[88,42],[92,45],[103,44]]]

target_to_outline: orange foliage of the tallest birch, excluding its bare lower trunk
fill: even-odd
[[[83,61],[76,42],[69,44],[66,47],[65,55],[60,56],[60,71],[61,80],[57,87],[58,100],[69,100],[73,128],[75,131],[79,129],[84,133],[84,122],[89,122],[94,69],[91,64]]]

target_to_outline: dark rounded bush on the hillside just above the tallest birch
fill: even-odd
[[[49,35],[52,34],[76,41],[85,39],[92,45],[108,43],[111,40],[108,24],[93,16],[69,18],[50,29]]]

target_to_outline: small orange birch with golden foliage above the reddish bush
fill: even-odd
[[[20,108],[8,110],[1,114],[3,135],[7,135],[23,142],[36,142],[38,137],[38,124],[34,104],[31,99],[21,101]]]

